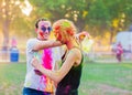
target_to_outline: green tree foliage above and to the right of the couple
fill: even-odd
[[[38,4],[40,10],[45,11],[52,21],[67,18],[75,22],[79,32],[89,30],[94,36],[103,35],[107,30],[113,38],[112,35],[131,24],[131,0],[76,0],[76,3],[74,0],[31,0],[31,2],[34,6]],[[113,25],[114,20],[118,20],[117,25]]]

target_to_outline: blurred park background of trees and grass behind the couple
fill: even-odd
[[[3,43],[8,48],[6,59],[0,51],[0,95],[21,95],[25,44],[35,36],[38,18],[52,22],[66,18],[74,21],[78,32],[91,35],[94,44],[85,57],[79,95],[132,95],[132,52],[118,63],[111,51],[116,35],[130,31],[132,0],[0,0],[0,50]],[[18,41],[20,54],[15,63],[10,62],[12,38]]]

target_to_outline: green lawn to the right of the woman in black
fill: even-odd
[[[79,95],[132,95],[132,64],[84,64]]]

